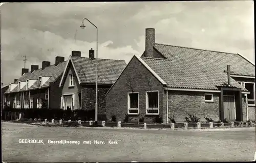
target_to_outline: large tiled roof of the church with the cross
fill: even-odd
[[[167,87],[218,89],[217,86],[227,83],[227,74],[223,72],[227,65],[233,74],[255,76],[255,66],[239,54],[164,44],[156,44],[155,48],[167,59],[141,58],[167,83]],[[232,78],[230,82],[231,86],[241,88]]]

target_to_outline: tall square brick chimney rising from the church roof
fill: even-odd
[[[153,57],[154,45],[155,45],[155,29],[146,28],[145,57]]]

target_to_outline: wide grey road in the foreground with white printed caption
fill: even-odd
[[[19,143],[20,139],[43,139],[45,144]],[[49,144],[49,140],[80,144]],[[255,148],[255,128],[170,131],[2,122],[3,161],[249,161]]]

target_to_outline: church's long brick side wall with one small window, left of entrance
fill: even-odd
[[[174,115],[176,122],[184,122],[187,113],[195,113],[201,121],[206,121],[204,116],[218,121],[220,93],[212,93],[214,102],[205,102],[204,94],[204,92],[168,91],[168,117]]]

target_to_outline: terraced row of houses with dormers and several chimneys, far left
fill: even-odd
[[[55,64],[42,62],[42,67],[22,68],[22,76],[8,85],[5,106],[12,108],[60,108],[61,89],[58,87],[66,62],[56,57]]]

